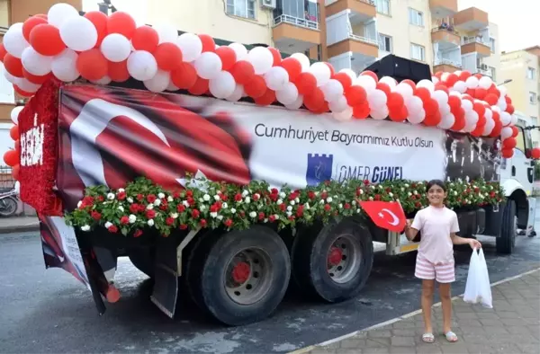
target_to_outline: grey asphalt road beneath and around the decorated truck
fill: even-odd
[[[540,236],[518,237],[511,256],[498,255],[493,238],[480,240],[492,282],[540,267]],[[127,259],[116,277],[121,302],[108,305],[100,317],[76,279],[64,270],[44,269],[35,233],[0,235],[0,353],[285,353],[418,309],[415,255],[377,254],[364,291],[346,303],[314,303],[291,293],[265,322],[227,328],[193,305],[170,320],[150,303],[148,278]],[[464,292],[470,255],[466,247],[455,253],[455,295]]]

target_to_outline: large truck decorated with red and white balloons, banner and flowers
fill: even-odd
[[[12,25],[0,53],[29,98],[4,161],[39,213],[46,266],[82,281],[100,314],[120,298],[121,256],[171,317],[188,296],[221,323],[253,323],[293,285],[347,300],[374,242],[418,248],[402,231],[432,179],[461,235],[511,253],[517,228],[532,232],[540,151],[490,77],[356,75],[67,4]]]

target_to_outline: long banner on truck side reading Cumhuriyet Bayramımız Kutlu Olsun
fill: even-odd
[[[60,94],[59,119],[57,184],[67,208],[76,207],[85,186],[120,188],[139,175],[166,188],[181,188],[186,172],[302,188],[329,179],[474,179],[491,173],[485,167],[491,143],[442,129],[374,119],[339,122],[329,114],[207,97],[69,85]]]

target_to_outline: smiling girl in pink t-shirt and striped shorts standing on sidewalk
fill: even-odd
[[[453,244],[468,243],[473,249],[482,247],[482,244],[476,240],[455,235],[459,232],[457,215],[453,210],[445,207],[445,198],[445,183],[438,180],[430,181],[428,183],[429,207],[419,210],[412,225],[408,221],[405,229],[405,235],[410,241],[414,240],[419,232],[422,235],[415,276],[422,279],[422,313],[425,323],[422,341],[427,343],[435,341],[431,326],[431,305],[436,279],[439,283],[439,294],[443,305],[443,330],[446,341],[457,341],[457,336],[451,330],[450,284],[455,281]]]

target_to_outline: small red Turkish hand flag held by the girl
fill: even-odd
[[[405,212],[397,201],[362,201],[360,207],[376,226],[401,233],[407,224]]]

